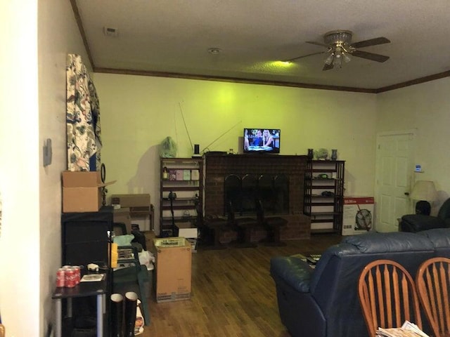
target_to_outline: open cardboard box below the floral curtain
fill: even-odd
[[[102,206],[100,171],[63,172],[63,213],[96,212]]]

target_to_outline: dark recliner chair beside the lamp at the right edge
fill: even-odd
[[[402,216],[399,223],[401,232],[421,232],[435,228],[450,227],[450,199],[442,204],[437,216],[425,216],[425,214],[408,214]]]

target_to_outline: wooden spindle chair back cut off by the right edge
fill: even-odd
[[[416,274],[416,288],[434,336],[450,336],[450,259],[423,262]]]

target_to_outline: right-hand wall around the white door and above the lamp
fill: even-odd
[[[450,126],[450,78],[438,79],[378,95],[377,132],[415,130],[414,159],[423,173],[414,173],[415,180],[433,180],[439,200],[432,204],[436,214],[449,198],[450,157],[448,155]]]

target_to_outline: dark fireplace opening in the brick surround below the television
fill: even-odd
[[[256,214],[261,200],[266,214],[289,213],[289,179],[284,174],[230,174],[224,181],[224,213],[231,203],[240,216]]]

